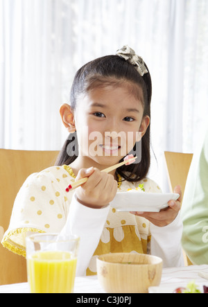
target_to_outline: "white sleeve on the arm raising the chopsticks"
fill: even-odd
[[[67,222],[61,234],[76,234],[80,237],[76,276],[86,274],[89,261],[99,243],[109,209],[110,206],[103,209],[85,207],[73,195]]]

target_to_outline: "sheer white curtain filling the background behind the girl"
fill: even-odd
[[[153,78],[150,177],[193,152],[208,114],[208,0],[0,0],[0,148],[60,150],[76,71],[124,44]]]

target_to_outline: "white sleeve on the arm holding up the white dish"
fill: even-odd
[[[150,223],[150,253],[163,259],[164,267],[184,266],[182,254],[182,220],[180,213],[171,224],[157,227]]]

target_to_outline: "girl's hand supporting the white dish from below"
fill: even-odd
[[[182,192],[180,186],[175,186],[174,193],[180,194],[180,197],[175,200],[168,202],[168,208],[162,209],[159,212],[131,212],[135,216],[141,216],[152,222],[155,226],[164,227],[171,224],[177,217],[178,212],[181,208]]]

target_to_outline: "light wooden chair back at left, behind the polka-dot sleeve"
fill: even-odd
[[[0,241],[8,229],[15,197],[26,178],[55,164],[58,151],[0,149]],[[26,259],[0,244],[0,285],[27,280]]]

